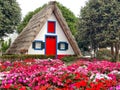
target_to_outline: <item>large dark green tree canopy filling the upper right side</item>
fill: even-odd
[[[94,51],[100,46],[116,45],[115,58],[118,59],[119,29],[120,29],[119,0],[89,0],[78,22],[78,38],[87,41]]]

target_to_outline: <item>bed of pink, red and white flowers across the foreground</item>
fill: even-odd
[[[120,90],[120,63],[79,60],[0,62],[0,88],[11,90]]]

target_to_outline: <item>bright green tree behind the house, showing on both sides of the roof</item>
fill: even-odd
[[[35,11],[29,12],[23,19],[23,21],[18,26],[18,33],[20,33],[24,27],[28,24],[29,20],[32,18],[32,16],[36,13],[38,13],[42,8],[44,8],[47,4],[43,5],[42,7],[37,8]],[[76,34],[76,21],[77,18],[75,15],[67,9],[65,6],[57,2],[57,6],[61,10],[64,18],[66,19],[68,26],[70,27],[72,33]]]

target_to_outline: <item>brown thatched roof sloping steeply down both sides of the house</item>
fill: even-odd
[[[44,7],[40,12],[31,18],[27,26],[23,29],[23,31],[19,34],[19,36],[7,50],[6,54],[20,54],[21,52],[27,52],[33,40],[40,32],[43,25],[46,23],[52,13],[55,14],[75,54],[81,55],[80,49],[55,1],[50,2],[46,7]]]

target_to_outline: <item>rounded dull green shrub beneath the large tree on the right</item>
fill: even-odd
[[[99,49],[98,52],[96,53],[96,57],[99,59],[111,60],[112,59],[111,51],[106,48]]]

